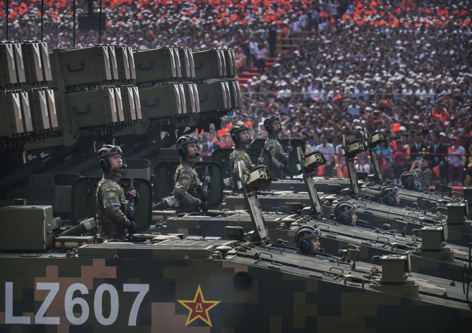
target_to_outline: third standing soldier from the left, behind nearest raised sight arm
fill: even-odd
[[[252,164],[251,158],[246,152],[247,148],[249,147],[249,143],[251,142],[249,127],[244,124],[237,125],[231,129],[230,134],[231,139],[235,143],[235,149],[230,154],[230,177],[226,178],[224,182],[227,188],[235,190],[237,181],[237,162],[243,161],[247,169],[252,169],[254,165]],[[264,158],[262,157],[258,157],[257,160],[261,163],[264,163]]]

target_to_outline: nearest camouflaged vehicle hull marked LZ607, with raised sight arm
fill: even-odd
[[[39,226],[30,235],[39,247],[14,242],[11,234],[1,243],[1,265],[8,267],[0,272],[1,327],[243,332],[251,325],[265,332],[390,332],[404,327],[391,321],[392,314],[410,313],[430,330],[471,325],[471,277],[461,286],[409,273],[408,255],[383,255],[381,266],[358,262],[354,267],[350,259],[300,255],[270,242],[256,198],[270,174],[264,166],[248,171],[240,163],[239,168],[239,186],[255,217],[247,241],[137,235],[134,243],[90,244],[93,237],[76,236],[58,237],[57,248],[50,249],[43,240],[52,224],[51,206],[2,208],[2,231],[14,235],[23,223]],[[426,320],[444,314],[454,320]]]

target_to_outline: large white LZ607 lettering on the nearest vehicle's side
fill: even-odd
[[[36,290],[49,290],[48,296],[44,299],[38,311],[34,315],[34,324],[59,325],[59,317],[46,317],[46,311],[53,302],[59,291],[59,282],[38,282]],[[89,304],[80,297],[72,298],[75,291],[80,291],[82,295],[89,294],[89,290],[82,283],[71,284],[64,297],[65,316],[72,325],[84,324],[89,319]],[[124,292],[137,292],[138,295],[134,300],[133,306],[128,317],[128,326],[136,326],[136,318],[138,317],[139,307],[143,302],[144,296],[149,291],[149,284],[124,283]],[[110,315],[105,318],[102,314],[103,293],[110,294],[111,308]],[[80,317],[74,316],[72,309],[75,304],[79,304],[82,313]],[[112,325],[118,317],[118,291],[108,283],[100,284],[95,290],[93,297],[93,310],[97,321],[105,326]],[[30,324],[29,317],[13,315],[13,282],[5,282],[5,324]]]

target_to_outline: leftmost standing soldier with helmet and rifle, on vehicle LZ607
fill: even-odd
[[[136,222],[130,222],[125,215],[127,201],[123,188],[119,185],[123,176],[123,160],[121,148],[105,145],[97,153],[98,163],[103,171],[103,178],[97,186],[96,217],[99,236],[105,239],[118,239],[124,241],[126,229],[134,234],[138,226]],[[127,193],[135,197],[135,203],[139,200],[136,190]]]

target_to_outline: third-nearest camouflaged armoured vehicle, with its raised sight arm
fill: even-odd
[[[361,187],[357,181],[353,161],[359,152],[366,150],[365,140],[359,139],[348,143],[345,136],[343,140],[345,145],[343,147],[343,155],[346,156],[352,187],[351,189],[341,190],[339,186],[331,184],[328,185],[328,188],[335,193],[338,191],[337,194],[327,195],[320,193],[320,206],[324,216],[329,217],[335,214],[335,208],[338,203],[350,202],[357,205],[356,214],[364,223],[380,229],[383,229],[384,224],[387,224],[394,230],[404,230],[404,233],[408,235],[412,235],[413,230],[421,229],[423,226],[434,226],[447,222],[448,242],[455,245],[469,246],[472,242],[472,222],[467,219],[469,214],[468,202],[451,202],[446,204],[445,207],[437,207],[435,212],[431,212],[419,207],[386,206],[383,203],[362,198],[360,197]],[[305,175],[305,178],[310,178],[310,175],[311,173]],[[402,189],[400,189],[400,193],[401,191]],[[264,211],[279,210],[279,207],[284,208],[294,203],[311,206],[313,200],[310,194],[305,192],[280,191],[263,192],[263,194],[268,194],[259,197]],[[235,210],[246,209],[246,206],[242,201],[241,195],[233,195],[225,198],[221,208]]]

